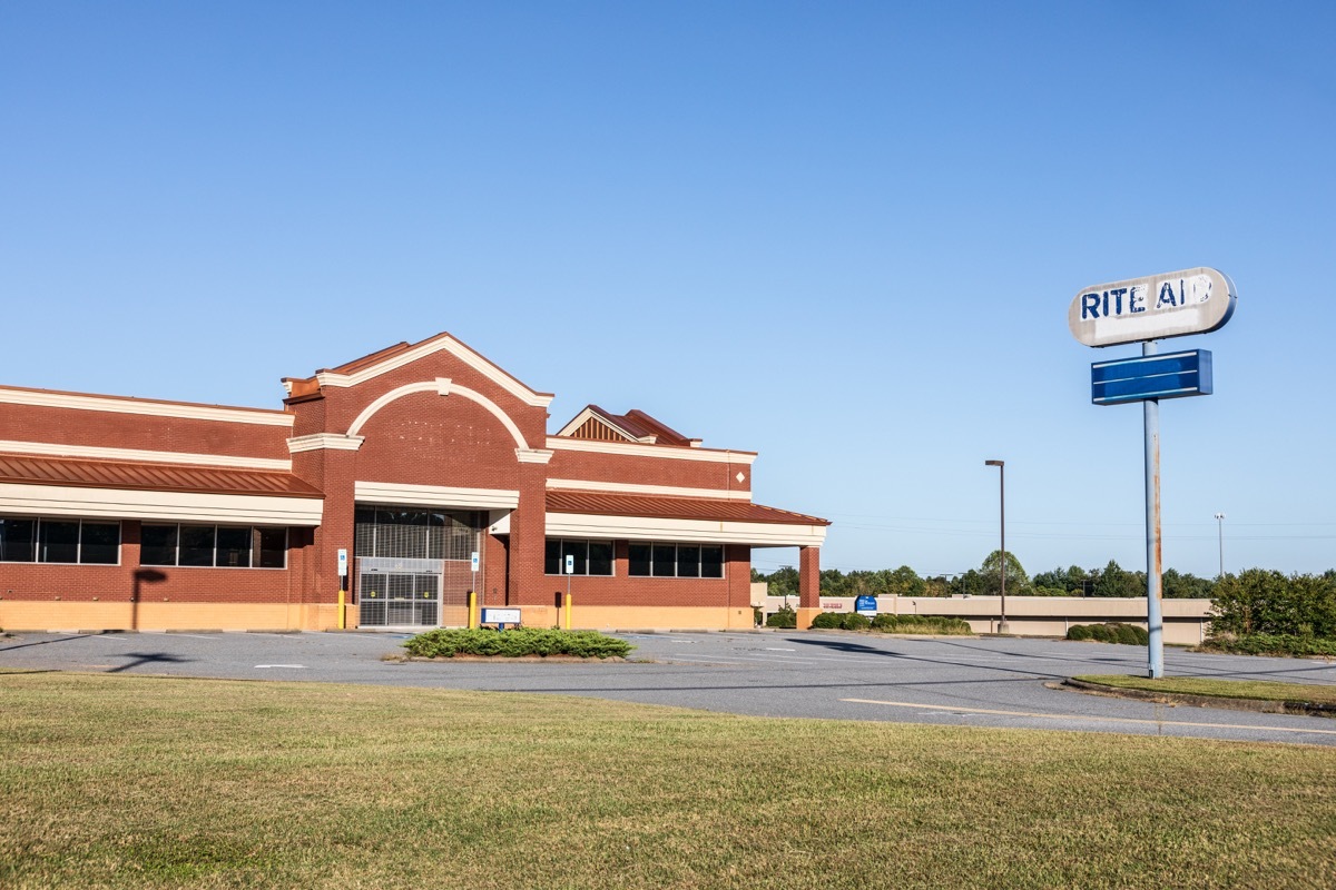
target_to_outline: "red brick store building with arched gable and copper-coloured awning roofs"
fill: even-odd
[[[549,435],[552,395],[448,334],[283,384],[0,387],[0,627],[462,626],[469,591],[553,626],[568,586],[573,627],[749,627],[754,547],[799,548],[816,611],[828,523],[752,503],[755,452],[597,406]]]

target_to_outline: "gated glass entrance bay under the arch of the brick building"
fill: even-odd
[[[485,514],[357,507],[362,627],[452,627],[469,620],[473,552]],[[481,566],[480,566],[481,570]]]

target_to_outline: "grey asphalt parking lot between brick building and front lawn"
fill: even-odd
[[[623,634],[629,662],[397,662],[403,634],[19,634],[0,669],[588,695],[766,717],[1336,745],[1336,721],[1085,695],[1081,674],[1144,674],[1130,646],[780,631]],[[1170,677],[1336,683],[1323,660],[1169,648]]]

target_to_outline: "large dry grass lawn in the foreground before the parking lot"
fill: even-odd
[[[1329,887],[1336,751],[0,674],[0,887]]]

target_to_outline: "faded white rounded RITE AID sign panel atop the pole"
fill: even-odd
[[[1237,299],[1228,275],[1198,266],[1082,288],[1067,326],[1086,346],[1206,334],[1229,320]]]

